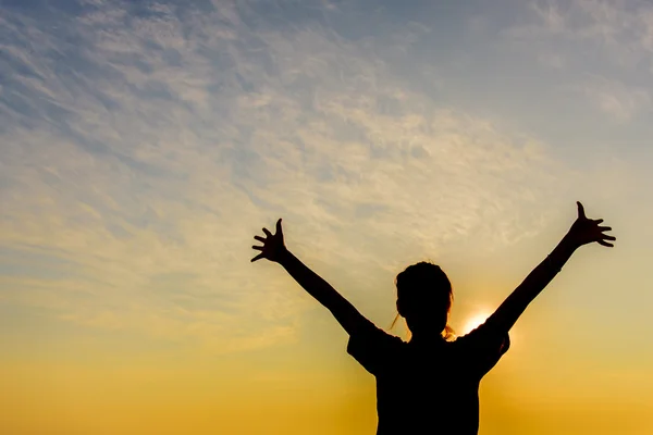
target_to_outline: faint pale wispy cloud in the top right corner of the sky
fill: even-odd
[[[648,111],[653,5],[636,0],[534,1],[528,16],[504,35],[522,42],[543,66],[564,65],[563,87],[584,95],[621,124]]]

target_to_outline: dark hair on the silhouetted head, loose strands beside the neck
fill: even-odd
[[[454,300],[454,293],[452,283],[439,265],[428,261],[411,264],[397,275],[395,278],[395,286],[397,287],[397,302],[406,300],[416,303],[422,301],[424,303],[435,303],[443,310],[446,310],[446,316],[448,319],[452,302]],[[392,322],[391,328],[394,326],[399,315],[401,314],[397,313],[395,320]],[[410,336],[409,328],[408,334]],[[442,332],[442,336],[445,339],[451,339],[455,336],[454,330],[448,325],[448,321]]]

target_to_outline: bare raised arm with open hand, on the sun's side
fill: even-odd
[[[506,298],[485,323],[497,327],[497,331],[508,332],[517,319],[523,313],[526,307],[549,285],[553,277],[560,271],[576,249],[583,245],[597,243],[613,247],[609,241],[615,237],[603,234],[612,231],[609,226],[600,226],[602,219],[588,219],[580,202],[578,217],[563,237],[555,249],[523,279],[523,282]],[[609,241],[608,241],[609,240]]]

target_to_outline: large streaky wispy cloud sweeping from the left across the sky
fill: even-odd
[[[286,7],[3,9],[5,301],[234,351],[293,340],[306,308],[249,263],[278,216],[364,287],[416,252],[542,228],[538,202],[571,177],[544,146],[407,86],[387,64],[407,33],[381,55],[320,24],[344,7],[275,23]]]

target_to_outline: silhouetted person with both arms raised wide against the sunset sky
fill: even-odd
[[[386,334],[362,316],[329,283],[284,246],[281,219],[273,235],[255,236],[261,258],[281,264],[326,307],[349,334],[349,352],[377,377],[378,435],[476,435],[479,427],[479,383],[509,347],[508,331],[579,247],[597,243],[612,247],[615,237],[603,220],[578,219],[555,249],[469,334],[452,339],[447,325],[452,285],[435,264],[420,262],[396,277],[397,311],[411,333],[410,341]]]

